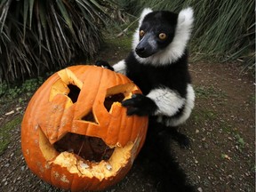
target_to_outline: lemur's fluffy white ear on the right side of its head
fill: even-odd
[[[178,16],[178,28],[190,30],[193,27],[193,13],[194,12],[191,7],[181,10]]]

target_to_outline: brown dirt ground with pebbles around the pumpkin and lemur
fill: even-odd
[[[126,52],[116,48],[110,62],[123,59]],[[98,59],[109,58],[109,51]],[[202,191],[255,191],[255,92],[252,75],[241,74],[236,63],[190,63],[196,90],[196,107],[180,132],[188,135],[190,148],[172,143],[173,154],[188,175],[188,181]],[[1,106],[0,129],[14,122],[8,148],[0,154],[0,191],[62,191],[39,180],[28,170],[20,149],[20,119],[24,102],[12,100]],[[8,114],[14,111],[11,115]],[[18,119],[18,120],[17,120]],[[15,121],[18,124],[15,124]],[[4,142],[4,137],[0,138]],[[124,180],[109,192],[156,191],[150,180],[141,179],[134,164]],[[144,182],[145,181],[145,182]],[[150,188],[150,190],[148,190]],[[172,191],[170,189],[170,191]]]

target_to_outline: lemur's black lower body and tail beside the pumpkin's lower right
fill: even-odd
[[[171,142],[177,140],[181,147],[187,147],[188,138],[175,128],[166,129],[163,124],[150,120],[144,147],[135,160],[142,166],[145,177],[155,180],[153,186],[158,192],[194,192],[196,188],[188,183],[185,172],[173,156]],[[186,143],[184,142],[186,140]]]

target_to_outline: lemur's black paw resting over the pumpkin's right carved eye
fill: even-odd
[[[156,103],[142,94],[133,94],[131,99],[124,100],[122,105],[127,108],[127,115],[150,116],[156,112]]]

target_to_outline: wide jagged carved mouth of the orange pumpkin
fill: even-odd
[[[134,156],[132,142],[128,142],[124,148],[109,148],[99,138],[67,133],[52,145],[40,127],[38,131],[39,147],[48,164],[59,164],[69,172],[76,172],[81,176],[95,176],[103,180],[116,174],[113,172],[119,172]],[[88,148],[90,149],[87,150]]]

